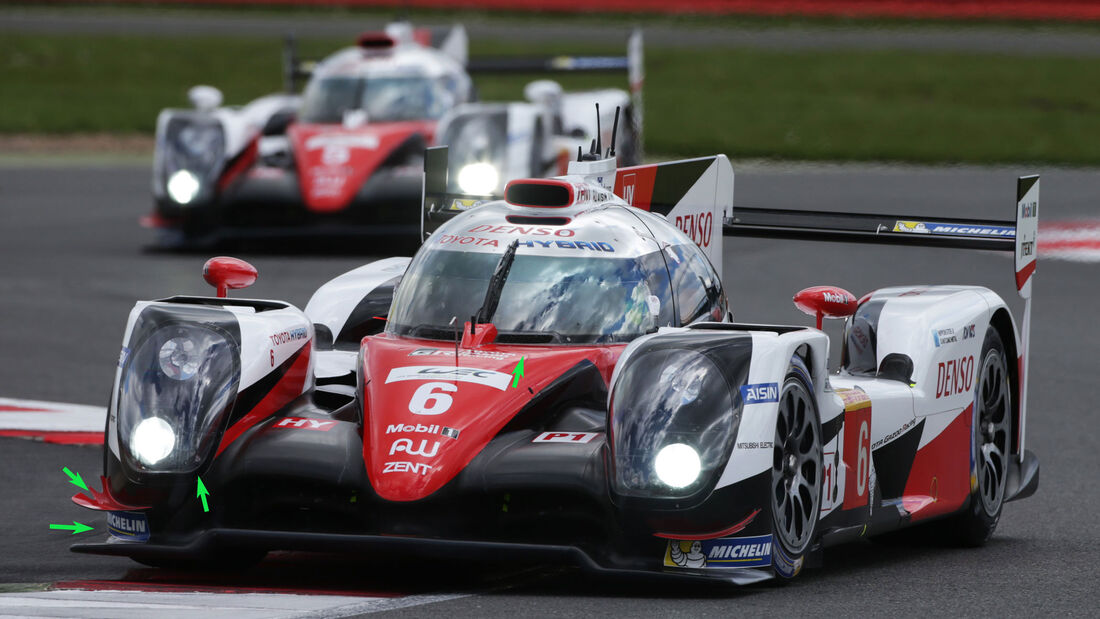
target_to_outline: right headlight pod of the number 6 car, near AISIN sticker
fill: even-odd
[[[728,457],[740,402],[705,354],[639,351],[612,396],[612,487],[622,496],[688,498],[713,487]]]

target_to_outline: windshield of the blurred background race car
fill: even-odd
[[[350,110],[371,122],[438,119],[458,102],[453,79],[351,77],[315,79],[301,104],[304,122],[338,123]]]

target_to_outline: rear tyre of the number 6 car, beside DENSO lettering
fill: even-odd
[[[978,358],[970,431],[970,501],[964,511],[934,523],[948,540],[968,548],[985,545],[1001,519],[1014,418],[1004,343],[992,325],[986,331]]]

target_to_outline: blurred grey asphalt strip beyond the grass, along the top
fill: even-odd
[[[396,15],[396,12],[395,12]],[[454,21],[458,21],[455,19]],[[440,18],[417,25],[450,25]],[[462,18],[471,38],[502,41],[624,41],[634,27],[628,19],[553,23],[515,18]],[[314,14],[182,13],[178,11],[97,11],[74,8],[0,8],[0,32],[152,34],[167,36],[249,35],[332,36],[351,41],[364,30],[380,29],[378,16],[319,10]],[[1100,56],[1100,34],[1064,27],[943,26],[892,27],[729,26],[647,22],[646,41],[670,47],[758,47],[799,49],[906,49],[1013,55]]]

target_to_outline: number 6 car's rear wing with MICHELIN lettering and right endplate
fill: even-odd
[[[1032,276],[1038,236],[1038,176],[1016,179],[1013,220],[898,217],[886,214],[734,207],[723,224],[725,236],[800,241],[847,241],[1012,252],[1016,291],[1024,300],[1020,327],[1020,457],[1023,457],[1031,350]]]

